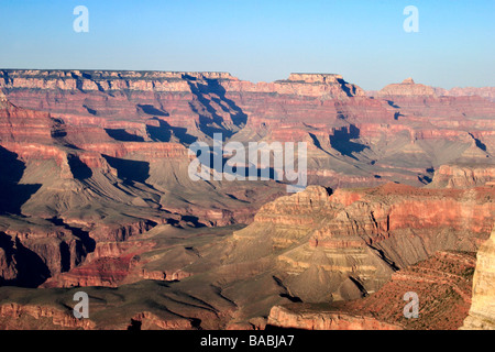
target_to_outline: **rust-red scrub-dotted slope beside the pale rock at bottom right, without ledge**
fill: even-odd
[[[429,258],[399,270],[378,292],[356,300],[339,302],[333,309],[364,315],[399,324],[408,330],[457,330],[471,306],[475,254],[435,253]],[[418,318],[406,318],[406,293],[418,295]]]

